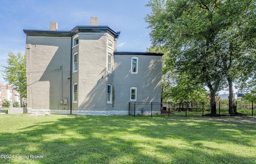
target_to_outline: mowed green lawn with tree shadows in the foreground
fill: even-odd
[[[0,163],[256,164],[252,118],[0,115]]]

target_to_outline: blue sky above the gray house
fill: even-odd
[[[148,0],[1,0],[0,65],[7,65],[8,53],[24,54],[26,35],[23,29],[49,30],[51,21],[58,30],[69,31],[76,25],[98,25],[121,31],[117,51],[145,52],[150,47],[150,29],[144,18],[151,12]],[[0,70],[4,70],[0,66]],[[2,75],[0,83],[6,84]]]

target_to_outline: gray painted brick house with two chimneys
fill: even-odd
[[[161,101],[162,55],[118,52],[120,32],[98,26],[26,34],[28,113],[128,115],[129,102]]]

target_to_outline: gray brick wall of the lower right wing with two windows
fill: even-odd
[[[138,74],[131,74],[131,59],[138,57]],[[114,110],[128,110],[130,88],[137,88],[136,102],[161,102],[161,56],[115,55]]]

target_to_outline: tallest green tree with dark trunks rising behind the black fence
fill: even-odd
[[[250,71],[245,68],[254,67],[243,61],[246,55],[254,61],[248,53],[255,45],[254,1],[150,0],[147,6],[152,8],[145,18],[152,29],[152,45],[168,47],[176,57],[176,70],[209,88],[211,113],[216,114],[216,92],[227,82],[232,88],[235,78]]]

